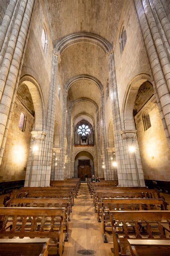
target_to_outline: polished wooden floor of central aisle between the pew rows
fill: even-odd
[[[102,223],[98,223],[93,201],[86,183],[81,183],[69,222],[69,242],[65,242],[63,256],[112,256],[113,240],[103,243]],[[110,241],[110,242],[109,242]]]

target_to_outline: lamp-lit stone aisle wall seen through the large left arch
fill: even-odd
[[[18,127],[21,111],[24,111],[27,118],[25,132]],[[34,117],[16,98],[0,166],[0,182],[25,179],[33,123]]]

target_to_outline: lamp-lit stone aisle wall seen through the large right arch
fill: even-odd
[[[145,131],[142,116],[146,110],[151,127]],[[135,116],[135,123],[145,179],[170,180],[170,152],[155,100],[149,100],[143,106]]]

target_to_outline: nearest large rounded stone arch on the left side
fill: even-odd
[[[44,131],[44,124],[45,124],[45,111],[44,111],[44,100],[42,91],[40,88],[40,85],[38,81],[30,76],[30,75],[24,75],[20,78],[19,85],[22,86],[22,84],[27,85],[32,101],[34,104],[34,110],[35,110],[35,131]]]

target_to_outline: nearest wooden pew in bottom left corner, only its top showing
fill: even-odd
[[[48,256],[49,238],[0,239],[0,256]]]

